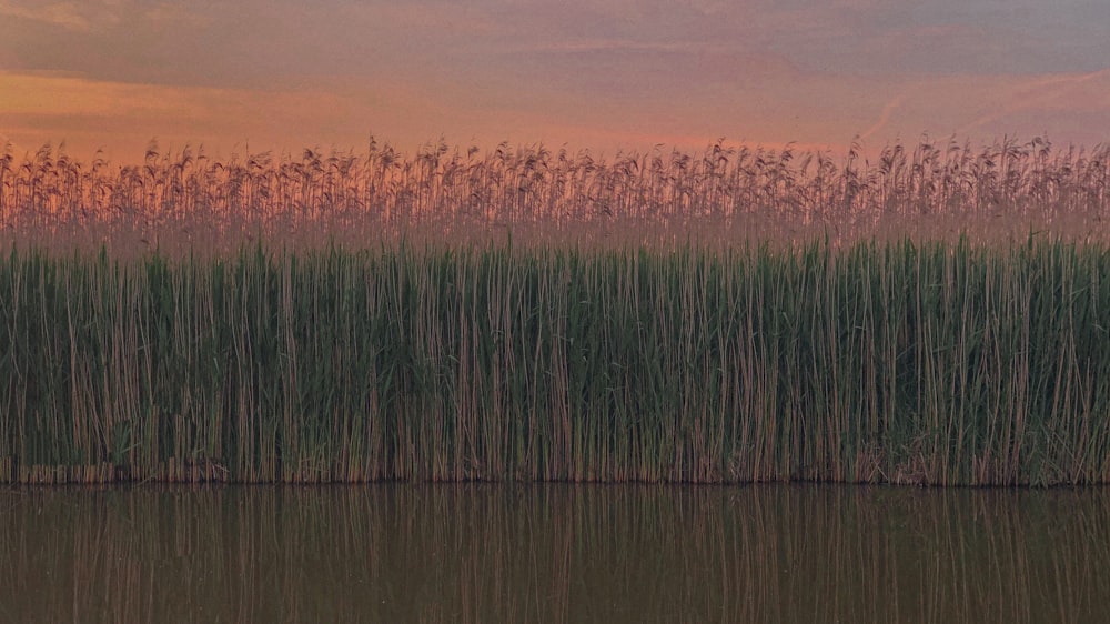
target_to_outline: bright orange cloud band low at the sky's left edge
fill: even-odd
[[[392,117],[387,111],[394,111]],[[374,102],[365,94],[325,91],[169,87],[0,72],[0,128],[17,151],[65,141],[74,153],[88,155],[104,148],[127,157],[140,153],[151,138],[179,148],[204,143],[225,151],[248,141],[276,150],[351,148],[369,137],[375,118],[404,128],[408,114],[425,112],[404,92]]]

